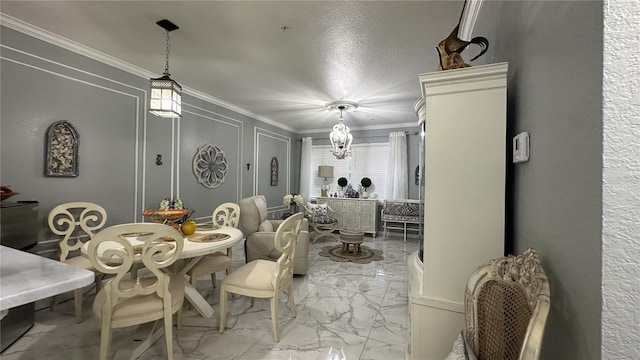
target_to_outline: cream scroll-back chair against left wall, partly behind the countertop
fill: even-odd
[[[63,236],[60,241],[60,261],[95,272],[96,293],[100,291],[104,274],[96,271],[89,259],[81,256],[78,250],[84,245],[83,240],[91,240],[106,222],[107,212],[102,206],[80,201],[60,204],[51,209],[48,217],[51,232]],[[74,251],[78,254],[69,257]],[[82,291],[82,288],[74,291],[76,322],[82,321]],[[56,308],[57,303],[58,297],[54,296],[52,310]]]

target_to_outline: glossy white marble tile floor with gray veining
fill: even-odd
[[[380,233],[380,235],[382,235]],[[292,318],[286,296],[280,298],[278,319],[280,342],[273,341],[268,299],[229,297],[229,313],[237,322],[223,334],[218,329],[174,327],[174,359],[317,359],[329,349],[342,348],[348,360],[404,359],[408,343],[407,258],[419,248],[416,238],[405,243],[401,235],[375,239],[365,236],[363,245],[382,249],[384,260],[369,264],[333,262],[319,256],[323,246],[338,245],[321,238],[310,246],[309,272],[294,277],[297,317]],[[234,248],[234,267],[244,263],[243,245]],[[218,273],[218,281],[223,277]],[[218,287],[208,277],[198,281],[198,290],[218,310]],[[34,327],[0,356],[3,360],[97,359],[99,328],[91,314],[94,290],[84,298],[83,321],[74,320],[73,301],[56,311],[36,312]],[[138,327],[114,329],[112,354],[131,347],[144,337]],[[139,340],[138,340],[139,341]],[[120,358],[116,354],[114,358]],[[165,359],[161,338],[139,359]]]

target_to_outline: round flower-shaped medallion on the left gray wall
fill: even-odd
[[[198,183],[209,189],[220,186],[227,177],[229,164],[224,151],[217,145],[207,144],[193,157],[193,173]]]

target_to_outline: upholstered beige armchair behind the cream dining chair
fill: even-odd
[[[280,251],[273,243],[275,231],[282,220],[267,218],[267,201],[264,195],[255,195],[240,200],[240,225],[246,238],[245,255],[247,262],[263,259],[275,261]],[[304,275],[309,270],[309,221],[302,220],[293,273]]]

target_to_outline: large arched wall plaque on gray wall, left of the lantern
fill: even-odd
[[[46,176],[78,176],[78,131],[66,120],[56,121],[47,130]]]

